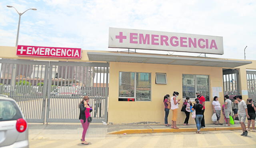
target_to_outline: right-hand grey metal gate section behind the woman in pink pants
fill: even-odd
[[[107,121],[108,63],[50,62],[46,122],[79,122],[78,105],[90,97],[93,122]]]

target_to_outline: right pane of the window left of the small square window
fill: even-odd
[[[136,101],[151,101],[150,73],[136,73]]]

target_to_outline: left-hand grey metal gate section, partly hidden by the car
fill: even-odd
[[[0,59],[0,94],[14,99],[28,122],[44,122],[48,65],[45,61]]]

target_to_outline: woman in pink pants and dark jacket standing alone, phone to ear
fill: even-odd
[[[82,144],[89,144],[88,142],[85,141],[86,131],[88,130],[88,127],[90,124],[90,122],[88,122],[88,117],[90,116],[90,112],[92,112],[92,107],[90,107],[89,105],[88,96],[83,97],[83,100],[79,104],[79,109],[80,109],[79,119],[84,128],[81,141],[82,141]]]

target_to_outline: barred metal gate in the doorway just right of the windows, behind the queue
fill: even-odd
[[[223,69],[224,95],[229,95],[229,99],[234,102],[233,97],[240,94],[239,73],[237,69]],[[232,103],[233,108],[233,103]],[[233,112],[231,112],[233,116]]]

